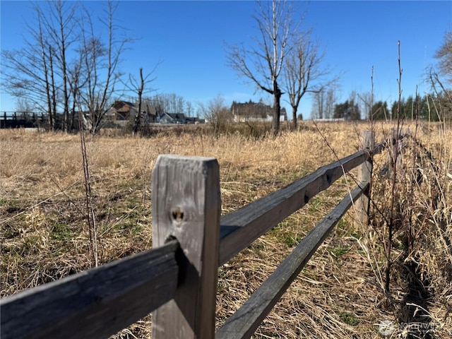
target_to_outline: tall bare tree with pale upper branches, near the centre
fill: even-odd
[[[287,1],[259,1],[258,10],[254,18],[260,32],[260,36],[254,39],[256,47],[228,46],[227,64],[239,76],[273,95],[273,135],[276,136],[280,128],[280,98],[283,95],[278,78],[297,25],[292,23],[294,8]]]

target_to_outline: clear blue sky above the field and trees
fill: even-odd
[[[40,3],[45,5],[44,3]],[[100,16],[105,2],[83,1]],[[352,90],[371,90],[374,66],[374,97],[392,102],[398,97],[398,40],[403,67],[403,96],[425,93],[422,83],[435,51],[452,29],[452,1],[310,1],[299,3],[307,14],[305,28],[326,50],[324,65],[342,74],[338,102]],[[132,37],[139,38],[124,54],[121,71],[138,76],[154,72],[155,93],[176,93],[206,103],[217,95],[239,102],[270,97],[238,78],[226,63],[225,43],[249,44],[258,34],[252,16],[255,1],[120,1],[117,18]],[[34,12],[28,1],[0,1],[1,49],[23,44],[25,22]],[[102,28],[99,28],[102,33]],[[106,33],[106,32],[105,32]],[[0,88],[0,112],[13,111],[15,101]],[[285,97],[283,96],[283,100]],[[290,115],[290,106],[283,102]],[[304,117],[311,113],[311,97],[300,105]]]

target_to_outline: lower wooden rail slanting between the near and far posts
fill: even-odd
[[[365,186],[367,188],[368,185]],[[267,314],[273,309],[281,295],[304,268],[309,258],[333,230],[340,218],[352,206],[352,201],[362,194],[357,186],[336,206],[285,258],[268,279],[254,292],[223,326],[215,339],[250,338]]]

